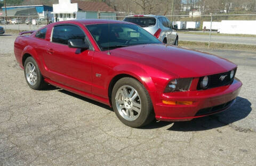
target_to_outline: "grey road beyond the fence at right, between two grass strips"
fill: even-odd
[[[209,42],[208,35],[202,34],[189,34],[178,32],[180,41],[199,41]],[[242,45],[256,45],[255,37],[237,37],[237,36],[211,36],[211,42],[219,43],[233,43]]]

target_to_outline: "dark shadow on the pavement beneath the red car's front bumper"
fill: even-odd
[[[209,130],[222,126],[227,126],[235,121],[244,119],[252,111],[251,102],[245,98],[237,97],[237,100],[233,106],[228,110],[215,115],[196,118],[191,121],[180,121],[180,122],[168,122],[168,121],[153,121],[153,123],[142,127],[141,129],[154,129],[161,128],[167,125],[172,125],[167,130],[178,131],[178,132],[192,132]]]

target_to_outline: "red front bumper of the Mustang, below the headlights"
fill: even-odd
[[[189,121],[228,109],[241,89],[242,82],[235,78],[231,85],[208,90],[163,93],[162,100],[193,101],[191,105],[169,105],[157,103],[154,106],[157,120]]]

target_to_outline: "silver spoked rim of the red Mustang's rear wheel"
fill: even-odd
[[[35,85],[37,81],[36,67],[33,63],[28,62],[25,68],[26,78],[30,85]]]

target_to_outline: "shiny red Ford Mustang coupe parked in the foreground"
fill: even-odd
[[[228,60],[166,46],[129,22],[63,21],[24,33],[14,53],[30,88],[52,84],[108,104],[131,127],[223,111],[242,86]]]

